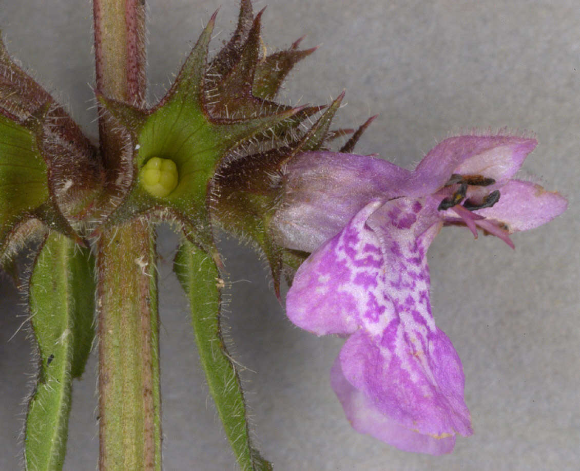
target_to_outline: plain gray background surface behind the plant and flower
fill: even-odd
[[[220,6],[216,0],[151,0],[151,101],[162,95]],[[284,0],[268,5],[269,50],[306,34],[322,44],[292,74],[282,100],[327,103],[346,88],[338,124],[380,116],[357,150],[412,168],[449,132],[536,133],[524,172],[559,189],[570,208],[545,227],[503,242],[445,229],[429,251],[439,327],[463,361],[475,434],[451,455],[407,454],[350,429],[329,386],[343,340],[293,327],[264,264],[223,241],[227,324],[263,454],[278,470],[577,469],[580,453],[578,168],[580,10],[572,1]],[[299,5],[299,6],[297,6]],[[213,41],[229,38],[237,5],[222,0]],[[0,0],[9,51],[96,136],[92,19],[88,0]],[[235,469],[200,371],[186,305],[171,274],[176,238],[160,240],[161,355],[166,470]],[[23,396],[34,365],[16,290],[0,288],[0,469],[19,469]],[[20,316],[20,317],[19,317]],[[74,383],[67,470],[97,461],[96,361]]]

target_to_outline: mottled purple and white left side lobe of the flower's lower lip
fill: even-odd
[[[286,298],[292,323],[318,335],[345,335],[358,329],[362,316],[379,316],[373,300],[382,296],[382,254],[365,223],[381,204],[362,208],[296,271]]]

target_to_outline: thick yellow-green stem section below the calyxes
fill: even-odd
[[[161,469],[155,239],[147,221],[103,233],[99,296],[100,469]]]

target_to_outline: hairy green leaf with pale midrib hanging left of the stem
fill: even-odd
[[[32,270],[29,302],[40,370],[26,418],[27,470],[63,466],[71,380],[82,375],[94,335],[94,267],[89,249],[51,231]]]

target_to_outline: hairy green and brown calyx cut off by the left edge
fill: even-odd
[[[80,242],[101,175],[96,149],[0,40],[0,265],[46,228]]]

